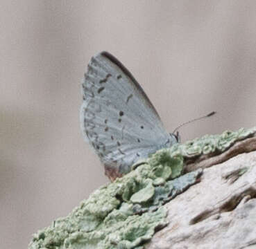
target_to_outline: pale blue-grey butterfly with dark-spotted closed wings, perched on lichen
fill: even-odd
[[[178,142],[133,75],[110,53],[92,57],[82,93],[81,129],[111,181],[130,172],[137,160]]]

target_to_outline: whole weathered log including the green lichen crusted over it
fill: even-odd
[[[29,248],[256,248],[255,131],[155,152],[34,234]]]

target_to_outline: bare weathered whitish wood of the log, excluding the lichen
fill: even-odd
[[[240,154],[254,150],[255,141],[190,165],[207,167],[200,183],[164,205],[169,225],[146,248],[256,248],[256,151]]]

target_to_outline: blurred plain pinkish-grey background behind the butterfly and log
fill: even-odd
[[[256,125],[256,1],[10,1],[0,9],[0,244],[108,183],[79,124],[80,82],[108,50],[182,141]]]

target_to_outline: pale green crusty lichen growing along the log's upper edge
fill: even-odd
[[[96,190],[67,217],[34,234],[29,248],[142,248],[155,230],[167,225],[162,205],[195,184],[202,174],[198,169],[182,175],[185,160],[220,154],[255,131],[255,127],[225,131],[155,152],[133,165],[130,173]]]

